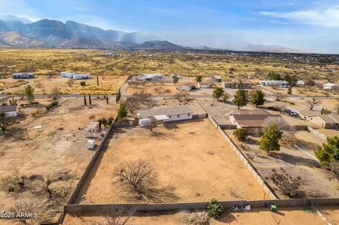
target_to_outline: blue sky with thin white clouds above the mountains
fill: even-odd
[[[174,44],[278,44],[339,54],[339,0],[0,0],[0,14],[74,20]]]

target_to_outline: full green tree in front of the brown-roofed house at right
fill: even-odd
[[[283,131],[279,130],[277,124],[271,123],[266,128],[260,139],[260,148],[266,152],[279,151],[279,140],[283,137]]]

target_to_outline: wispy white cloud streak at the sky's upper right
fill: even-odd
[[[297,24],[319,25],[332,28],[339,27],[339,8],[292,11],[287,13],[260,11],[258,13],[262,16],[292,20]]]

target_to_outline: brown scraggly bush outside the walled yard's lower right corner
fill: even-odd
[[[272,174],[266,177],[266,180],[272,181],[283,195],[287,195],[288,197],[300,197],[302,195],[302,191],[300,190],[302,178],[299,176],[290,176],[283,167],[280,167],[280,173],[272,169]]]

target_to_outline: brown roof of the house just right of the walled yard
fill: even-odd
[[[273,117],[283,119],[283,117],[278,114],[235,114],[233,116],[239,126],[247,128],[263,128],[265,126],[266,118]]]

